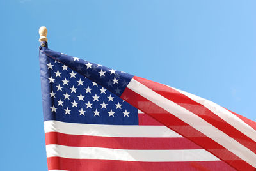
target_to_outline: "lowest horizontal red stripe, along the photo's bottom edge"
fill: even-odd
[[[97,159],[47,158],[48,169],[54,170],[234,170],[223,161],[193,161],[193,162],[139,162]]]

